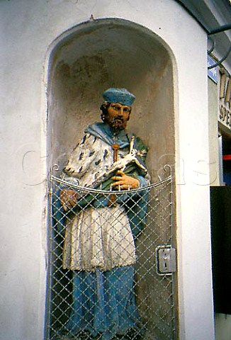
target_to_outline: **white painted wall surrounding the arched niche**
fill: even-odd
[[[1,340],[42,340],[49,47],[94,18],[157,33],[175,60],[180,339],[212,340],[206,35],[175,1],[0,2]]]

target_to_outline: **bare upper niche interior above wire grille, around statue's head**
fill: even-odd
[[[89,21],[57,39],[48,71],[50,166],[61,169],[86,125],[100,121],[101,94],[113,86],[136,96],[128,128],[150,148],[152,181],[173,164],[173,66],[157,35],[130,21]]]

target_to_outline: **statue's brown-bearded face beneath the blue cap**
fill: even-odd
[[[130,106],[122,105],[120,103],[111,103],[108,106],[108,113],[105,116],[105,123],[107,123],[115,132],[119,132],[126,128],[130,117]]]

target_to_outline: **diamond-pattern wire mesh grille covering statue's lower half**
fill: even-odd
[[[78,192],[67,211],[62,188]],[[112,191],[55,176],[50,189],[46,339],[176,339],[174,278],[158,275],[156,259],[173,237],[171,176],[118,191],[110,206]]]

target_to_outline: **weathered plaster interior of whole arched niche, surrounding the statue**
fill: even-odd
[[[173,69],[169,47],[147,28],[129,21],[89,21],[60,36],[50,53],[48,67],[49,165],[58,164],[62,169],[69,152],[81,140],[86,125],[100,120],[103,91],[113,86],[124,87],[136,96],[128,128],[149,147],[147,167],[152,182],[157,181],[157,175],[162,174],[159,169],[164,164],[174,164]],[[154,334],[158,339],[175,339],[176,290],[173,296],[172,285],[176,280],[158,276],[154,258],[156,247],[169,245],[174,238],[171,229],[173,214],[167,212],[174,205],[169,203],[172,191],[168,190],[164,188],[162,193],[154,196],[157,199],[152,202],[156,207],[149,214],[153,223],[146,226],[136,244],[139,258],[136,266],[137,304],[150,334],[147,339],[154,339]],[[161,200],[163,205],[159,204]],[[62,246],[57,244],[55,239],[52,261],[57,263],[51,269],[54,285],[62,280],[62,269],[56,273],[56,269],[62,267]],[[64,285],[67,285],[66,281]],[[62,305],[65,314],[69,300],[57,293],[55,297],[53,291],[50,299],[54,305]],[[67,322],[67,314],[62,319],[59,313],[56,310],[50,312],[53,319],[56,318],[51,319],[52,329],[57,320]]]

